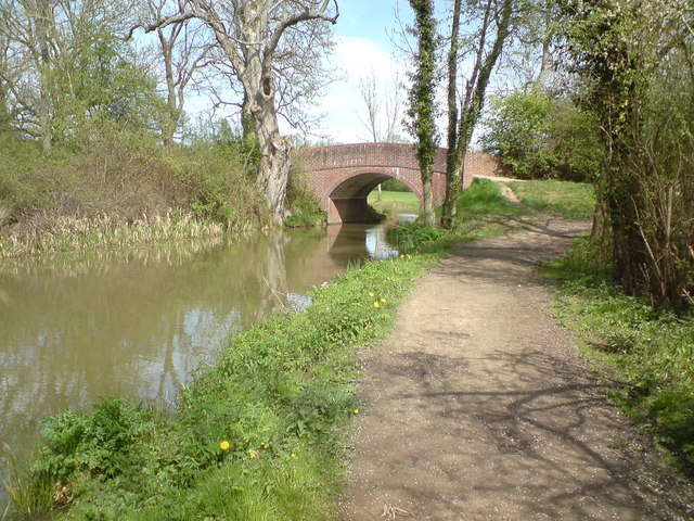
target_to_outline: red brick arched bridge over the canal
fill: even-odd
[[[446,152],[437,149],[432,188],[434,204],[446,194]],[[327,223],[354,223],[367,217],[367,196],[389,178],[408,186],[422,201],[420,167],[411,144],[362,143],[297,149],[293,163],[307,174],[318,194]],[[488,154],[468,152],[465,156],[467,188],[473,175],[493,174],[497,163]]]

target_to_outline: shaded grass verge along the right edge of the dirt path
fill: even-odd
[[[582,239],[542,272],[561,287],[557,316],[592,366],[618,382],[612,397],[694,475],[694,317],[626,296]]]

